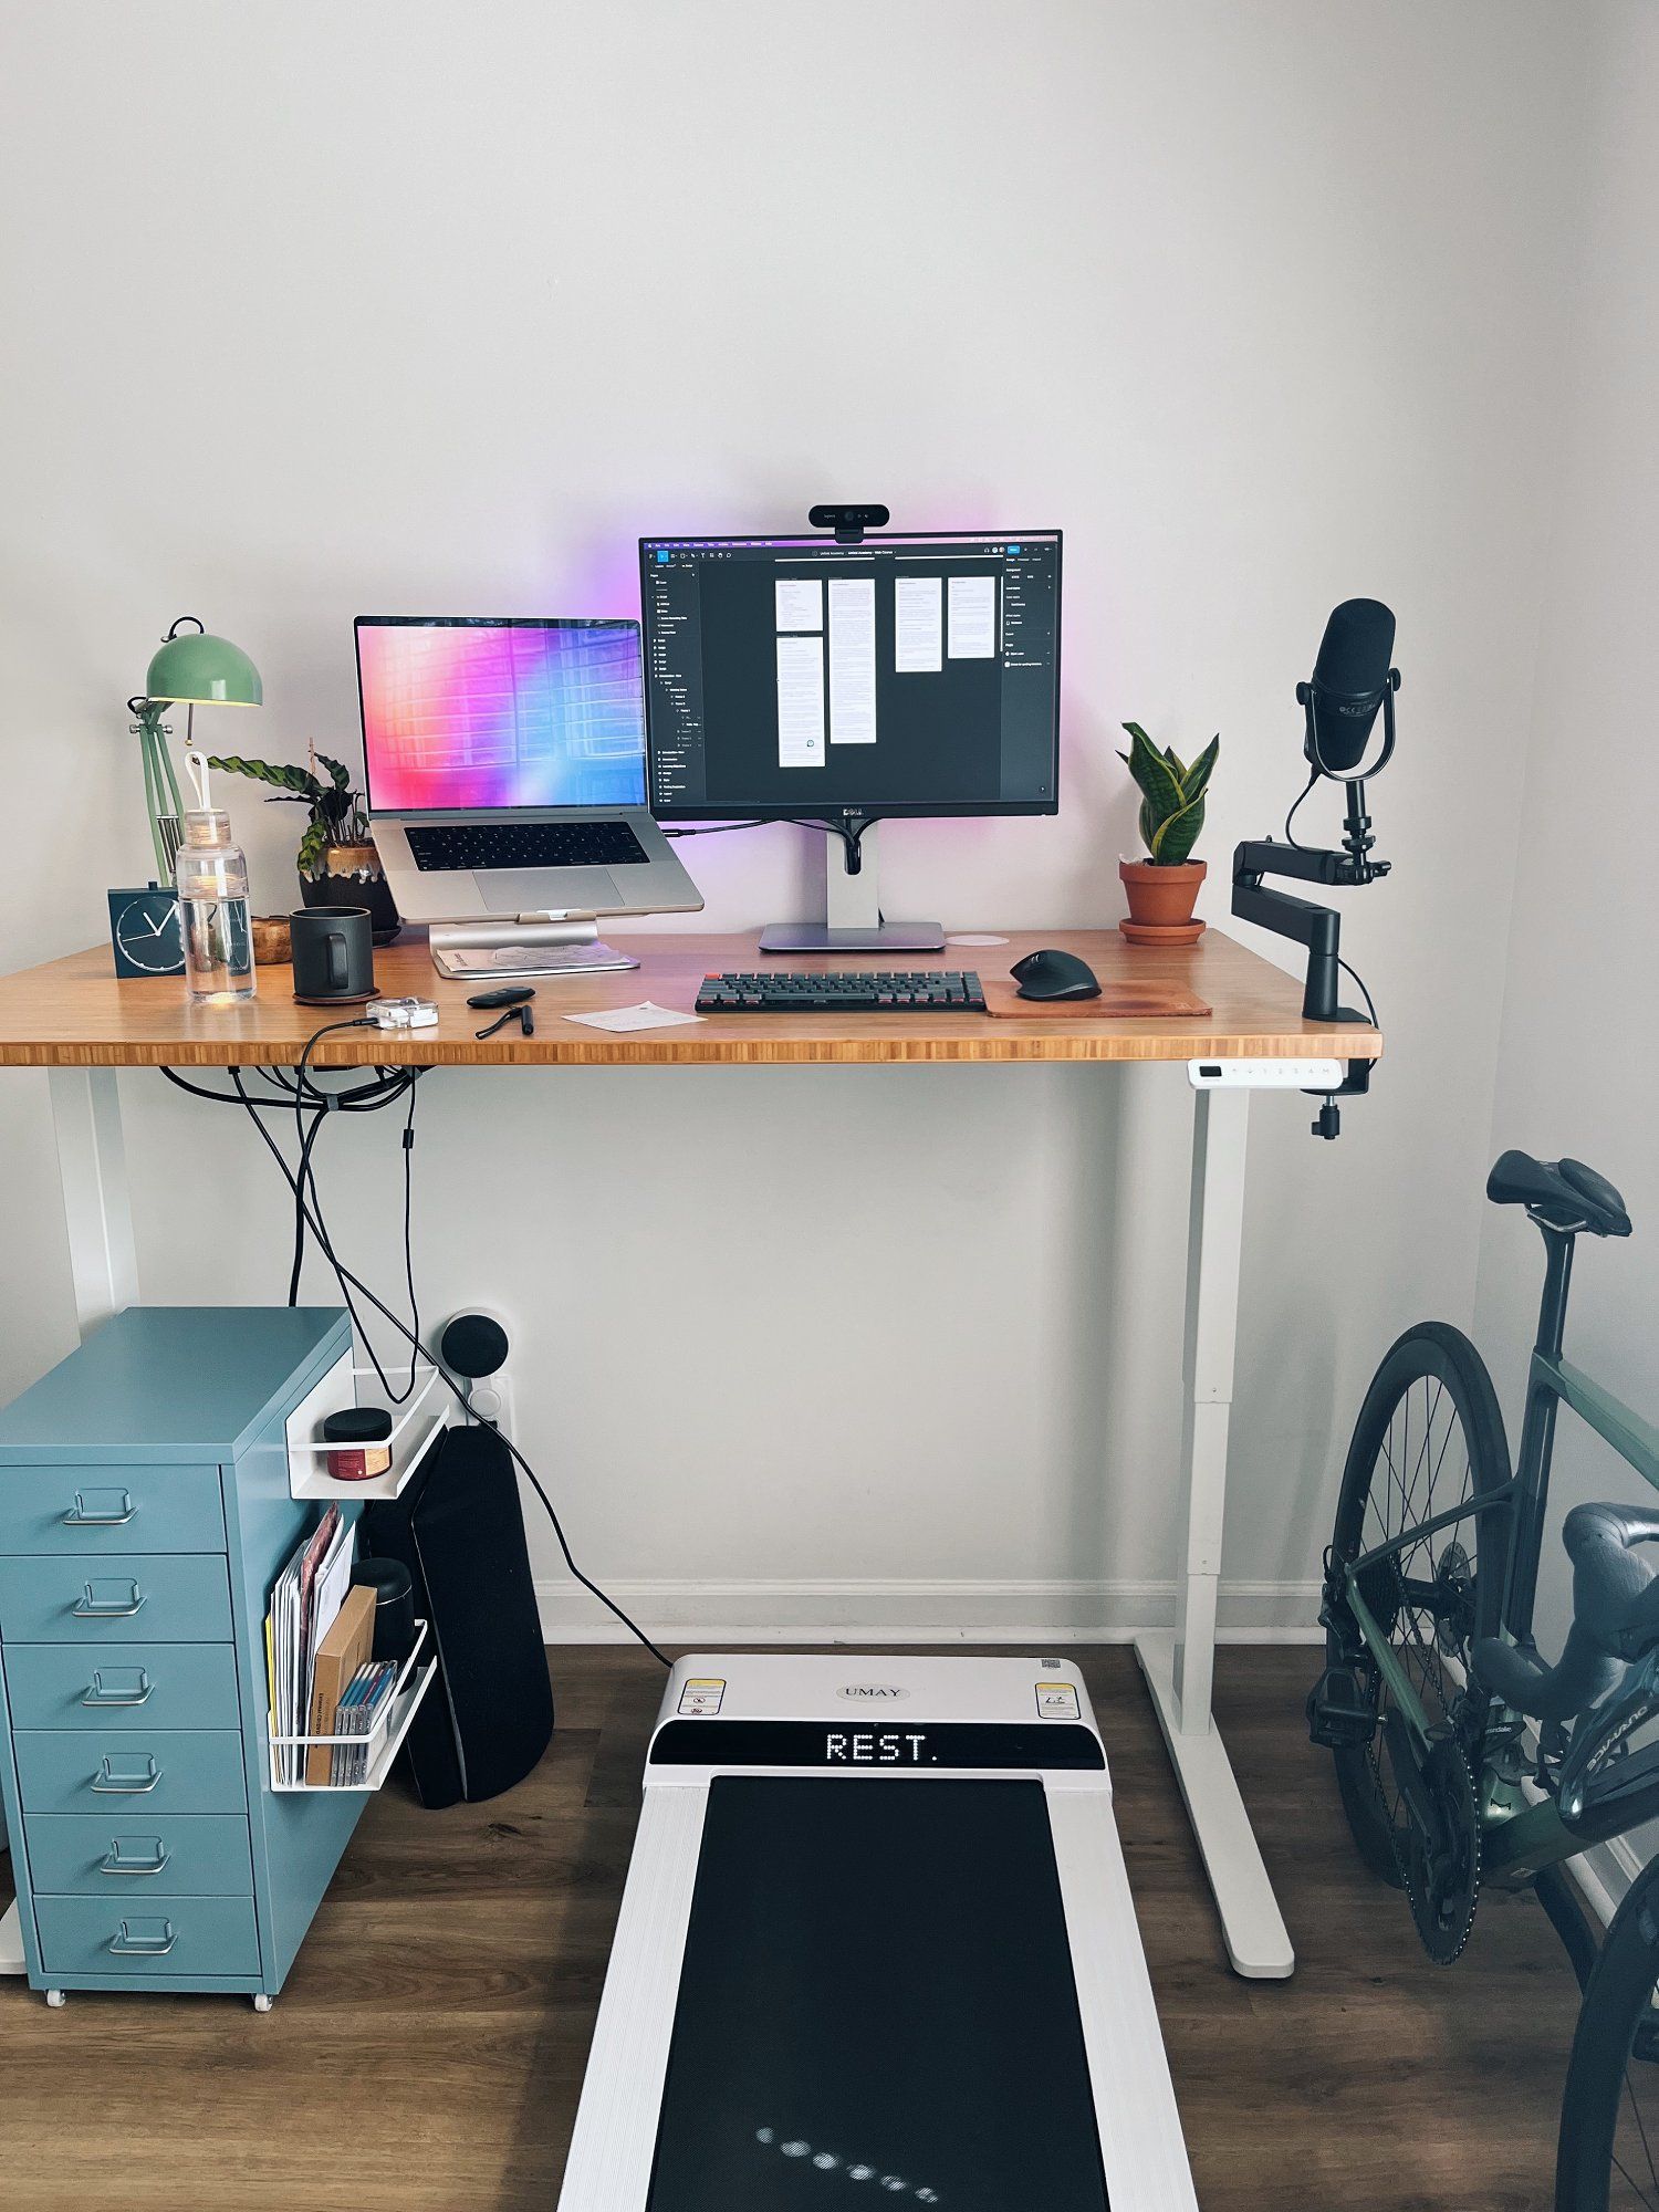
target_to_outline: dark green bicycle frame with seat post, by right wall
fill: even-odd
[[[1548,1511],[1551,1460],[1555,1455],[1557,1407],[1566,1405],[1573,1413],[1577,1413],[1579,1420],[1595,1429],[1595,1433],[1610,1444],[1613,1451],[1617,1451],[1626,1467],[1635,1469],[1644,1482],[1650,1482],[1659,1491],[1659,1429],[1641,1420],[1639,1413],[1624,1405],[1624,1400],[1615,1398],[1613,1391],[1604,1389],[1593,1376],[1586,1376],[1582,1369],[1562,1358],[1575,1239],[1571,1230],[1555,1230],[1546,1223],[1540,1223],[1540,1228],[1544,1228],[1548,1261],[1537,1316],[1537,1340],[1533,1343],[1533,1358],[1526,1378],[1526,1409],[1522,1416],[1515,1473],[1495,1491],[1486,1491],[1484,1498],[1471,1498],[1467,1504],[1451,1506],[1447,1513],[1436,1513],[1431,1520],[1418,1522],[1391,1542],[1363,1553],[1345,1568],[1345,1597],[1354,1626],[1365,1639],[1371,1661],[1387,1683],[1394,1705],[1409,1730],[1418,1754],[1427,1754],[1433,1741],[1431,1721],[1411,1677],[1396,1659],[1387,1635],[1365,1604],[1358,1586],[1360,1575],[1371,1566],[1380,1566],[1383,1562],[1398,1557],[1425,1537],[1438,1535],[1442,1528],[1451,1528],[1467,1520],[1486,1520],[1491,1524],[1491,1540],[1495,1540],[1502,1551],[1504,1590],[1500,1604],[1500,1628],[1515,1644],[1531,1646],[1533,1604],[1537,1597],[1537,1562],[1544,1540],[1544,1515]],[[1402,1586],[1407,1599],[1416,1599],[1418,1604],[1433,1597],[1431,1588],[1411,1584],[1407,1577],[1402,1577]],[[1451,1670],[1455,1672],[1455,1661],[1451,1661]],[[1626,1692],[1621,1690],[1619,1701],[1624,1701],[1624,1694]],[[1637,1686],[1635,1694],[1641,1697],[1648,1692]],[[1608,1717],[1604,1714],[1604,1721]],[[1566,1825],[1553,1796],[1540,1796],[1528,1803],[1517,1785],[1506,1783],[1498,1774],[1484,1774],[1480,1787],[1480,1818],[1482,1863],[1486,1876],[1500,1878],[1506,1885],[1531,1880],[1540,1867],[1555,1865],[1562,1858],[1573,1858],[1586,1847],[1586,1843],[1601,1843],[1606,1836],[1624,1834],[1641,1820],[1652,1818],[1652,1814],[1659,1812],[1659,1747],[1655,1747],[1652,1754],[1641,1754],[1641,1763],[1630,1761],[1630,1783],[1646,1783],[1648,1765],[1652,1767],[1652,1787],[1644,1787],[1639,1792],[1624,1790],[1617,1809],[1604,1807],[1604,1814],[1613,1814],[1610,1818],[1597,1820],[1595,1807],[1590,1807],[1586,1818],[1582,1818],[1575,1827]]]

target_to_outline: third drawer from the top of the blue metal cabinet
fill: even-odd
[[[4,1670],[13,1728],[241,1728],[232,1644],[7,1644]]]

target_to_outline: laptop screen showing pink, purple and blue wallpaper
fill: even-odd
[[[637,622],[356,617],[372,814],[637,807]]]

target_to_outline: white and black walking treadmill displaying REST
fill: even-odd
[[[1055,1659],[681,1659],[560,2212],[1197,2212]]]

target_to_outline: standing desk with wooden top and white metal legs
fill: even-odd
[[[613,942],[639,958],[619,973],[546,980],[533,1037],[513,1029],[478,1042],[465,1004],[473,984],[440,982],[416,936],[374,956],[387,995],[438,1000],[438,1029],[341,1031],[310,1055],[312,1068],[352,1066],[898,1066],[940,1062],[1148,1062],[1148,1060],[1374,1060],[1376,1029],[1325,1026],[1301,1015],[1301,984],[1232,938],[1208,929],[1192,947],[1135,949],[1113,931],[1011,931],[1006,945],[905,953],[909,967],[978,967],[1000,975],[1040,945],[1086,960],[1104,987],[1168,982],[1208,1000],[1208,1018],[1095,1020],[1031,1013],[750,1013],[697,1026],[608,1033],[560,1013],[655,1000],[690,1011],[714,969],[759,969],[752,936],[644,936]],[[790,956],[790,967],[869,967],[872,953]],[[234,1011],[186,1004],[177,978],[117,982],[108,949],[73,953],[0,978],[0,1066],[49,1068],[58,1168],[82,1334],[137,1303],[137,1254],[126,1190],[117,1068],[226,1068],[294,1064],[327,1018],[299,1006],[285,969],[263,969],[261,995]],[[347,1011],[347,1009],[343,1009]],[[1203,1851],[1228,1955],[1252,1978],[1294,1966],[1261,1849],[1210,1714],[1217,1584],[1228,1484],[1228,1418],[1239,1316],[1248,1091],[1199,1091],[1192,1099],[1188,1208],[1181,1478],[1186,1557],[1177,1626],[1144,1632],[1135,1655],[1157,1705],[1188,1816]],[[1285,1110],[1301,1110],[1287,1099]],[[0,1922],[0,1958],[18,1951],[15,1922]]]

